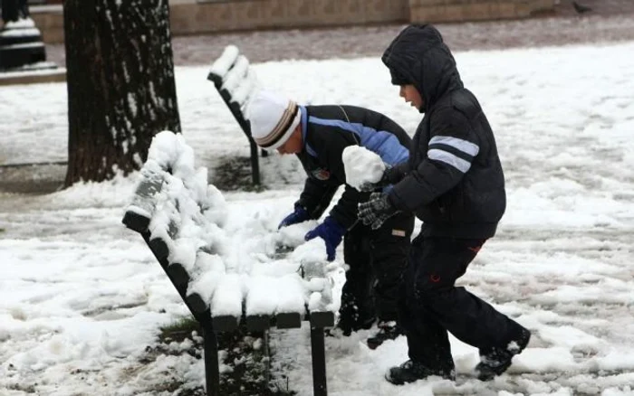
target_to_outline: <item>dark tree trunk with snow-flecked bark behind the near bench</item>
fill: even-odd
[[[139,169],[180,132],[168,0],[66,0],[66,186]]]

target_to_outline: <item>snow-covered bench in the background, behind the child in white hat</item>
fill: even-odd
[[[251,137],[251,125],[245,118],[245,106],[258,85],[255,72],[249,67],[245,55],[240,54],[235,45],[228,45],[211,65],[207,80],[214,83],[220,97],[225,100],[226,106],[249,139],[252,180],[254,184],[260,184],[258,147]],[[265,153],[263,151],[262,155],[265,156]]]

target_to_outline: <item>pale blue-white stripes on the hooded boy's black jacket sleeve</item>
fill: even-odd
[[[480,147],[468,140],[436,136],[429,140],[427,158],[444,162],[465,174],[479,151]]]

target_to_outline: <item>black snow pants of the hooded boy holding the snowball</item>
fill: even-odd
[[[399,325],[408,338],[409,359],[451,372],[454,361],[447,331],[481,354],[505,349],[519,338],[522,325],[455,286],[484,243],[421,235],[412,241],[399,296]]]

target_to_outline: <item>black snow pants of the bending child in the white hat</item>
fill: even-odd
[[[408,261],[414,216],[399,213],[379,230],[357,222],[343,239],[343,259],[350,267],[341,289],[339,326],[369,328],[375,318],[397,320],[400,278]]]

